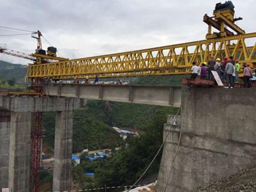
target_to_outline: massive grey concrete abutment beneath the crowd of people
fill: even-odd
[[[190,191],[256,165],[256,89],[191,88],[182,95],[181,123],[164,125],[157,191]]]

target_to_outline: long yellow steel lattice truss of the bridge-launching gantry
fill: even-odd
[[[256,63],[256,33],[206,39],[138,51],[114,53],[60,62],[31,64],[27,77],[55,79],[99,77],[133,77],[189,74],[193,61],[202,63],[232,55],[239,63]],[[247,45],[246,45],[247,44]],[[250,44],[250,45],[248,45]],[[242,67],[242,66],[241,66]]]

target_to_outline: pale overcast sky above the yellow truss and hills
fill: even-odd
[[[212,15],[220,0],[0,0],[0,26],[43,36],[69,59],[133,51],[205,39],[203,15]],[[222,3],[225,1],[221,1]],[[256,0],[233,0],[238,26],[256,31]],[[0,28],[0,35],[26,33]],[[32,53],[36,39],[30,35],[1,37],[7,48]],[[49,46],[44,39],[43,48]],[[0,60],[29,60],[0,54]]]

